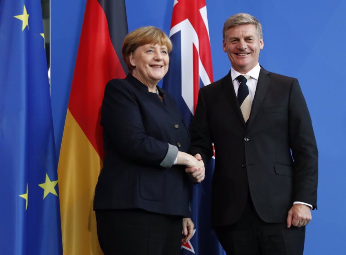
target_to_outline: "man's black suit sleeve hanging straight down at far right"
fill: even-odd
[[[294,79],[289,99],[289,139],[294,161],[294,201],[317,207],[318,151],[309,111]]]

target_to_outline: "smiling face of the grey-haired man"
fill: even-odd
[[[241,74],[257,65],[263,46],[263,38],[258,38],[256,26],[252,24],[230,28],[223,41],[224,52],[227,52],[233,69]]]

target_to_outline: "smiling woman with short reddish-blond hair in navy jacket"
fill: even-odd
[[[101,109],[105,158],[94,199],[98,238],[107,254],[180,254],[194,228],[185,153],[190,137],[174,99],[157,87],[168,71],[169,38],[154,27],[125,37],[125,79],[108,82]],[[183,228],[183,237],[182,237]]]

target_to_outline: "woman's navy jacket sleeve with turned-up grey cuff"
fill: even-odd
[[[106,133],[104,139],[109,140],[104,141],[105,146],[114,147],[129,160],[147,165],[171,166],[178,148],[175,150],[175,146],[169,146],[146,134],[136,100],[128,84],[118,80],[107,84],[101,108],[101,124]]]

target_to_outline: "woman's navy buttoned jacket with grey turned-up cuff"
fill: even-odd
[[[174,99],[161,92],[163,103],[131,75],[107,84],[101,108],[106,155],[95,210],[142,208],[189,216],[185,167],[160,163],[167,143],[187,151],[190,136]]]

